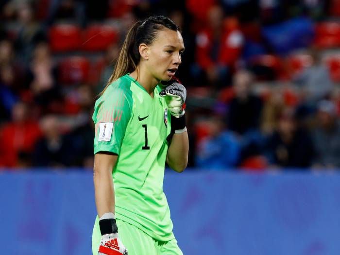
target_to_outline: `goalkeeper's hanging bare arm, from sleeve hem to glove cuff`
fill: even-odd
[[[113,154],[96,153],[94,155],[93,182],[99,218],[107,212],[115,213],[112,170],[117,158],[118,156]]]

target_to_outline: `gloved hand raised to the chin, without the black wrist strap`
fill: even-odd
[[[170,114],[176,118],[184,115],[186,108],[187,89],[178,82],[167,85],[160,93],[165,98]]]

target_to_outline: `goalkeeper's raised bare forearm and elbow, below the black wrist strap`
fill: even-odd
[[[173,134],[167,154],[167,163],[176,172],[183,172],[187,167],[189,138],[187,132]]]

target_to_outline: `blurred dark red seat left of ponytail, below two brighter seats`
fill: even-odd
[[[59,81],[63,84],[80,84],[88,81],[90,62],[85,57],[68,57],[59,64]]]

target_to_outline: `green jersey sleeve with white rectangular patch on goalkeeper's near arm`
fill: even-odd
[[[132,112],[132,92],[125,88],[108,88],[96,101],[94,153],[120,153]]]

